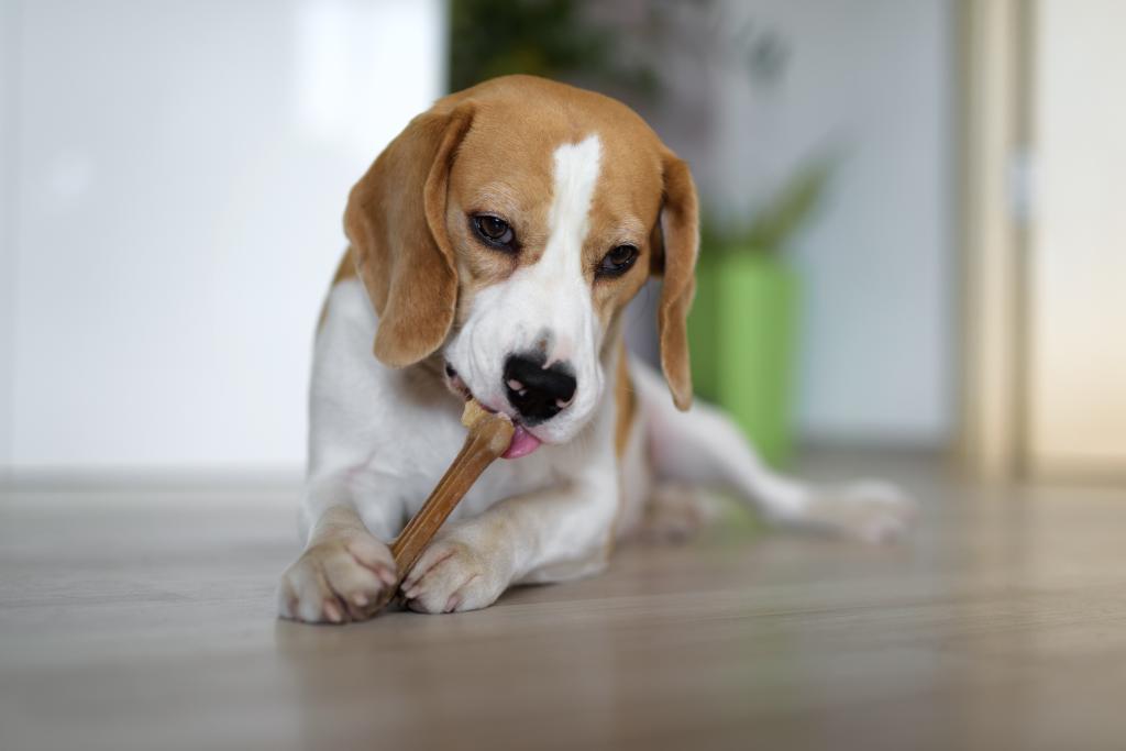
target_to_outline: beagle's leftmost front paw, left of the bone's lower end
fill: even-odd
[[[306,623],[367,620],[395,584],[387,546],[366,533],[318,543],[282,575],[278,615]]]

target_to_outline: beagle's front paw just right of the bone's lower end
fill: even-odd
[[[509,581],[499,556],[445,537],[422,553],[402,592],[408,607],[419,613],[477,610],[492,605]]]

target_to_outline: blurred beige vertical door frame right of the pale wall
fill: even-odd
[[[1025,452],[1026,258],[1035,0],[959,0],[959,415],[968,474],[1013,480]]]

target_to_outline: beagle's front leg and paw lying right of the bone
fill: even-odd
[[[443,529],[403,582],[411,609],[476,610],[512,583],[548,582],[606,566],[618,488],[587,477],[506,499]]]

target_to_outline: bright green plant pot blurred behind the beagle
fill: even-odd
[[[696,394],[724,408],[762,457],[783,466],[794,453],[798,278],[762,251],[709,250],[688,319]]]

